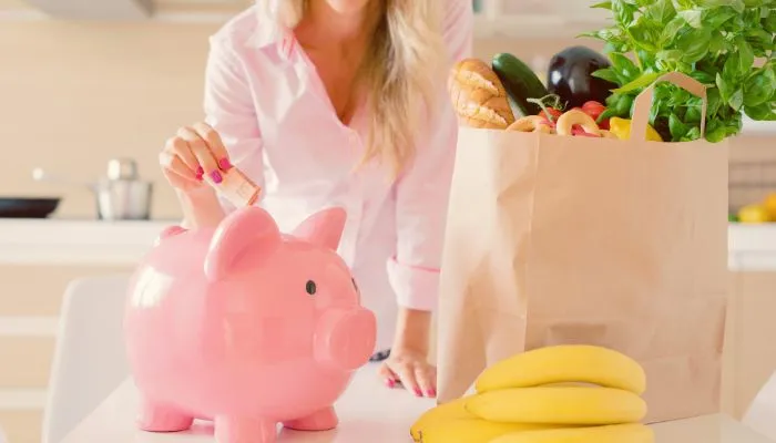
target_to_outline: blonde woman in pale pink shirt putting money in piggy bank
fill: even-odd
[[[211,39],[206,122],[160,156],[190,227],[234,209],[214,192],[233,165],[284,231],[344,206],[339,254],[389,349],[379,373],[418,396],[436,395],[429,332],[457,141],[445,83],[472,21],[469,0],[258,0]]]

